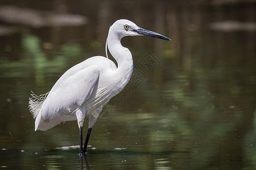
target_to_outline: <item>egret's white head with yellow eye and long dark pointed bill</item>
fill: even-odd
[[[150,36],[163,40],[171,40],[166,36],[160,35],[160,33],[156,33],[153,31],[148,31],[147,29],[143,29],[138,27],[136,24],[127,19],[119,19],[117,20],[109,29],[110,33],[113,35],[117,35],[119,39],[125,36]]]

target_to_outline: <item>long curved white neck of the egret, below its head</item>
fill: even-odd
[[[114,33],[110,28],[109,35],[107,38],[107,44],[109,52],[112,54],[113,58],[117,61],[117,72],[116,76],[119,79],[120,91],[126,86],[133,73],[133,56],[129,49],[125,48],[121,44],[122,36]]]

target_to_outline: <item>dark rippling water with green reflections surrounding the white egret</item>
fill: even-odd
[[[255,3],[0,7],[0,169],[256,169]],[[51,90],[76,63],[105,56],[109,25],[120,18],[172,41],[122,40],[134,74],[102,111],[81,160],[77,122],[34,131],[28,97]]]

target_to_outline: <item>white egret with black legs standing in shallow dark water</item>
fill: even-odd
[[[35,131],[51,129],[60,122],[77,120],[80,154],[86,153],[92,126],[102,107],[123,90],[133,73],[133,57],[129,49],[121,45],[121,39],[125,36],[151,36],[170,40],[159,33],[140,28],[129,20],[117,20],[109,28],[106,57],[91,57],[71,67],[47,94],[31,94],[28,107],[35,118]],[[108,49],[117,61],[117,66],[108,58]],[[89,125],[82,147],[85,118],[89,119]]]

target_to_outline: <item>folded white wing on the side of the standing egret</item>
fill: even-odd
[[[96,66],[85,67],[68,77],[63,74],[44,101],[42,120],[70,114],[79,108],[97,88],[99,76],[100,71]]]

